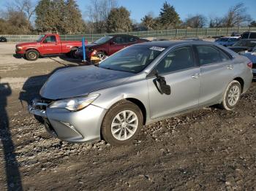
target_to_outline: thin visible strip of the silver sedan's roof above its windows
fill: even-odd
[[[134,46],[148,46],[148,47],[174,47],[177,45],[186,45],[186,44],[214,44],[213,42],[198,41],[198,40],[179,40],[179,41],[152,41],[144,42],[140,44],[135,44]]]

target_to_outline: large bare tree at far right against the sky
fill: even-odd
[[[246,13],[244,3],[238,3],[234,7],[230,7],[227,15],[224,17],[223,24],[225,27],[237,27],[243,23],[249,23],[251,20],[250,15]]]

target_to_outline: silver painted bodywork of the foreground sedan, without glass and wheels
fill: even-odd
[[[140,46],[166,47],[166,50],[138,74],[110,71],[95,66],[65,69],[53,74],[40,91],[44,98],[56,100],[100,94],[90,106],[79,112],[69,112],[67,109],[46,109],[47,118],[51,125],[55,125],[53,128],[58,137],[65,141],[99,140],[105,114],[113,104],[123,99],[140,103],[141,109],[145,110],[145,124],[149,124],[201,106],[219,104],[225,88],[236,77],[244,80],[243,92],[249,88],[252,82],[252,70],[246,66],[249,60],[217,45],[233,56],[232,61],[165,74],[167,85],[170,85],[172,92],[170,95],[160,94],[153,83],[155,77],[149,77],[149,74],[170,50],[191,44],[212,43],[183,41],[139,44]],[[227,69],[230,65],[233,69]],[[200,76],[197,79],[192,78],[197,73]],[[33,108],[30,111],[34,113]],[[63,127],[64,124],[66,128]],[[75,133],[70,132],[70,125],[71,129],[75,128]]]

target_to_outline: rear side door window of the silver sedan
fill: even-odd
[[[221,63],[230,60],[230,58],[221,50],[214,46],[197,45],[196,46],[200,66],[211,63]]]

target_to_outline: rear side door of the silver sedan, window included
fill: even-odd
[[[233,79],[231,56],[214,45],[195,46],[200,64],[201,89],[199,104],[216,104]]]

